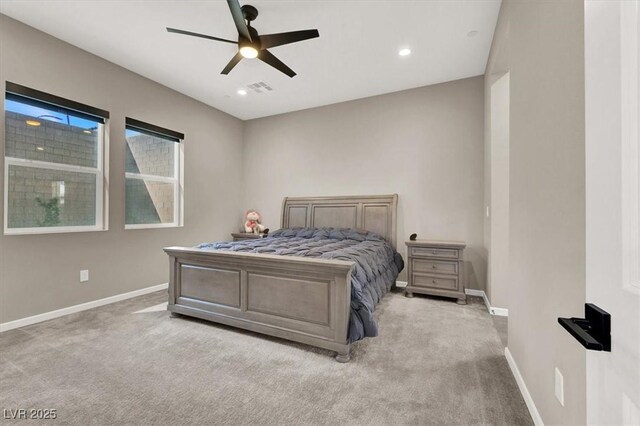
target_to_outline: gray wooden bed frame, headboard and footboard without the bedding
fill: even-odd
[[[282,227],[358,228],[396,246],[398,196],[284,199]],[[337,352],[347,340],[353,262],[168,247],[169,305],[182,314]]]

